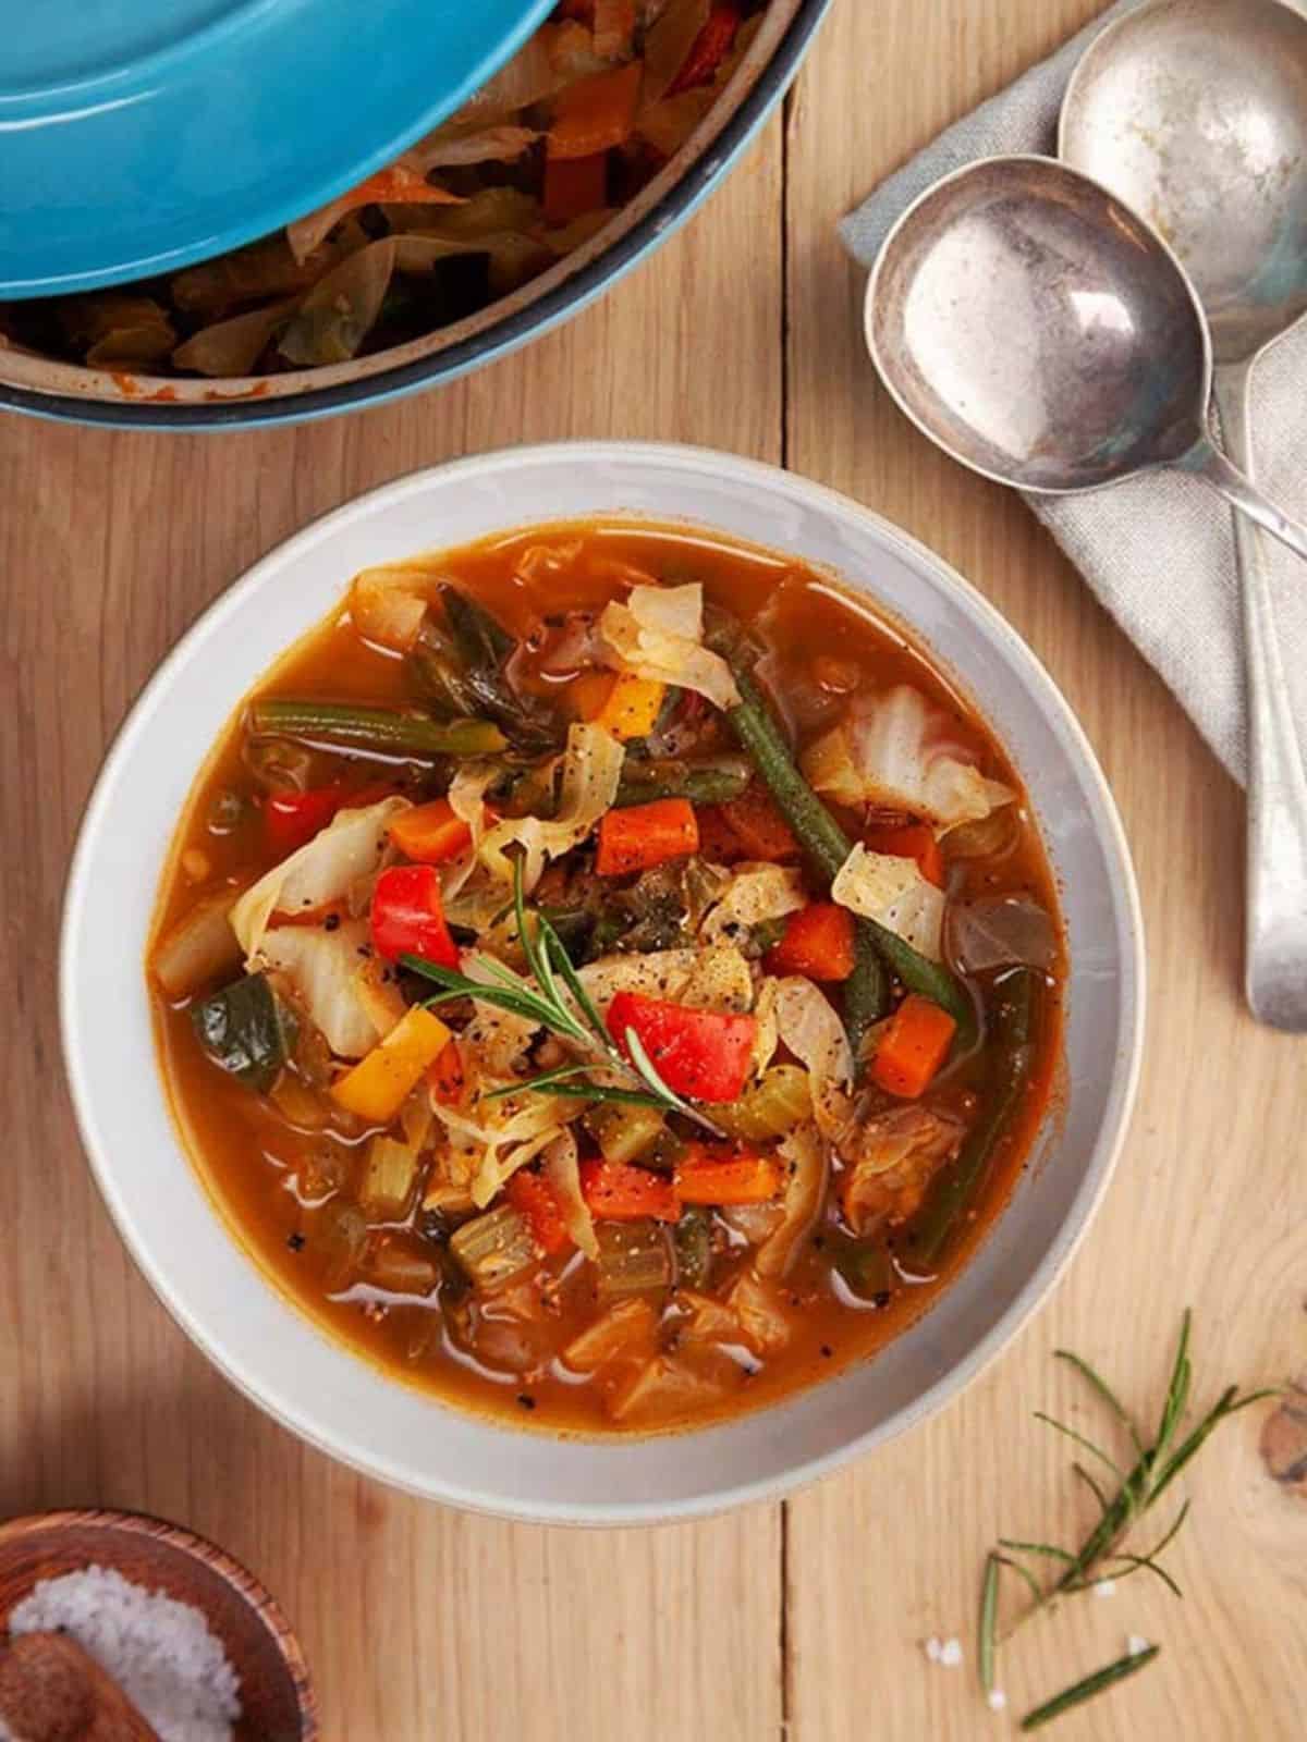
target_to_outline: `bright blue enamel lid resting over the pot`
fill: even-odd
[[[0,298],[171,272],[314,211],[554,0],[0,0]]]

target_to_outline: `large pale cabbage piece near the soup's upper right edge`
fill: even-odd
[[[901,683],[856,695],[843,721],[803,753],[803,773],[840,805],[875,803],[938,829],[988,817],[1016,796],[953,754],[948,716]]]

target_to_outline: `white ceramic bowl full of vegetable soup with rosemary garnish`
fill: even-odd
[[[228,1378],[570,1523],[951,1397],[1084,1233],[1143,1016],[1018,636],[856,503],[640,444],[420,472],[237,582],[105,765],[61,974],[105,1198]]]

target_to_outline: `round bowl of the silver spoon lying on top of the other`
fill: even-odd
[[[1096,490],[1202,439],[1211,355],[1183,270],[1053,159],[988,159],[911,206],[871,272],[866,338],[927,436],[1019,490]]]

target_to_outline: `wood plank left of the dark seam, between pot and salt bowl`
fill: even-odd
[[[777,1733],[779,1509],[615,1535],[460,1517],[331,1465],[209,1369],[119,1244],[63,1089],[56,934],[75,824],[157,660],[307,519],[514,441],[775,458],[779,334],[777,122],[599,307],[444,392],[246,436],[0,423],[0,1509],[138,1507],[214,1536],[298,1622],[329,1742]]]

